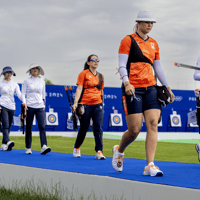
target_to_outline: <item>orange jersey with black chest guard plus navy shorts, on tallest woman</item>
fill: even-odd
[[[143,113],[148,109],[161,109],[154,87],[156,80],[152,65],[160,60],[157,42],[148,37],[143,40],[137,33],[126,36],[119,47],[119,58],[127,55],[126,69],[131,85],[135,87],[135,96],[125,93],[122,84],[122,103],[125,115]]]

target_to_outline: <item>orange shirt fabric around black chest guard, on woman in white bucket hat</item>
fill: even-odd
[[[137,33],[131,34],[140,47],[143,55],[153,64],[154,60],[160,60],[157,42],[148,38],[144,41]],[[119,52],[129,55],[131,49],[131,38],[126,36],[120,44]],[[129,55],[131,56],[131,55]],[[129,81],[135,88],[148,87],[156,84],[151,64],[145,62],[130,63]]]

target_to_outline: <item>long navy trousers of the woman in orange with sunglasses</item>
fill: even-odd
[[[89,125],[90,125],[90,119],[93,120],[93,134],[95,138],[95,151],[102,151],[103,150],[103,114],[104,114],[104,108],[103,104],[97,104],[97,105],[85,105],[85,113],[81,116],[80,119],[80,129],[78,131],[78,135],[76,138],[76,142],[74,145],[74,148],[79,148],[86,136],[86,133],[88,131]]]

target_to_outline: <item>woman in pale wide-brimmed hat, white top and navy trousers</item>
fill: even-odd
[[[38,122],[38,128],[40,133],[41,154],[46,154],[51,151],[50,147],[47,147],[46,139],[46,114],[45,114],[45,82],[39,75],[44,75],[44,71],[37,63],[30,65],[27,73],[30,77],[27,78],[22,84],[22,101],[25,105],[26,111],[26,154],[32,154],[31,142],[32,142],[32,125],[34,116],[36,116]]]

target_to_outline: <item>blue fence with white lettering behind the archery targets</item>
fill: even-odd
[[[21,84],[20,84],[21,87]],[[74,93],[76,87],[74,87]],[[173,104],[169,104],[162,111],[162,120],[163,127],[159,128],[159,131],[167,132],[167,131],[198,131],[198,128],[188,128],[187,127],[187,113],[190,110],[196,109],[196,100],[193,91],[189,90],[173,90],[176,100]],[[55,128],[56,131],[69,131],[66,129],[67,122],[67,113],[70,112],[70,106],[68,103],[67,95],[64,90],[64,86],[58,85],[47,85],[46,86],[46,112],[49,111],[49,107],[54,109],[54,112],[58,113],[59,125]],[[15,97],[16,99],[16,112],[15,116],[20,114],[20,105],[21,101]],[[121,103],[121,88],[110,88],[105,87],[104,89],[104,99],[105,99],[105,113],[104,113],[104,123],[103,130],[111,131],[109,127],[109,116],[110,113],[113,113],[114,110],[118,110],[118,113],[122,113],[123,118],[123,127],[121,127],[120,131],[125,131],[127,129],[125,115],[122,108]],[[179,129],[171,129],[169,128],[169,115],[172,114],[172,110],[177,111],[177,114],[181,115],[182,127]],[[17,131],[18,127],[12,126],[11,131]],[[34,128],[35,131],[38,130],[37,126]],[[112,129],[116,131],[116,129]],[[48,127],[47,127],[48,131]],[[145,125],[142,127],[142,131],[146,131]]]

